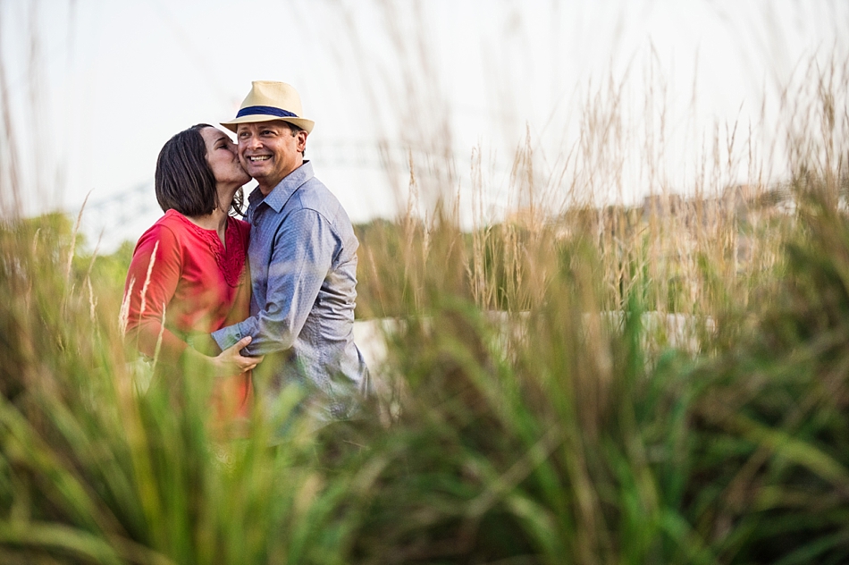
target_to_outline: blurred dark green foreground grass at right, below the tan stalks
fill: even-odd
[[[849,223],[802,217],[756,299],[702,265],[735,325],[710,358],[652,358],[644,287],[622,325],[588,317],[604,288],[581,237],[525,245],[558,268],[507,343],[505,318],[425,291],[432,316],[391,336],[402,409],[373,446],[358,561],[844,562]]]

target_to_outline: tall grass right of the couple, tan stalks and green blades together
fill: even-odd
[[[835,98],[794,107],[825,127],[804,159],[791,139],[781,184],[523,210],[471,234],[444,212],[413,235],[408,220],[362,232],[366,305],[426,316],[390,336],[405,400],[375,448],[359,555],[845,561],[849,119]],[[613,309],[611,328],[598,313]],[[692,315],[707,355],[647,340],[646,310]]]

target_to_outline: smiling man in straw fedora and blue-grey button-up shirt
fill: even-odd
[[[257,80],[231,122],[242,166],[259,186],[248,197],[250,317],[213,333],[221,349],[246,336],[265,355],[255,376],[274,400],[306,388],[318,417],[344,419],[366,395],[368,369],[353,341],[357,237],[348,215],[304,159],[314,123],[298,92]]]

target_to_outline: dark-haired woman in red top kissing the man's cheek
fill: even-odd
[[[262,358],[240,355],[249,337],[217,357],[188,342],[248,317],[250,225],[228,212],[238,210],[241,198],[234,197],[249,180],[223,131],[201,123],[169,139],[156,162],[156,199],[165,215],[139,239],[124,287],[126,334],[155,359],[154,378],[215,378],[221,423],[247,416],[248,371]]]

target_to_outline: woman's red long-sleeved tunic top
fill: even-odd
[[[127,336],[154,357],[161,333],[157,366],[177,367],[190,333],[212,333],[248,317],[249,231],[249,223],[228,216],[225,247],[215,230],[168,210],[139,238],[124,286]],[[226,412],[245,415],[250,396],[249,373],[216,382],[220,416],[222,401],[233,407]]]

